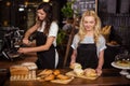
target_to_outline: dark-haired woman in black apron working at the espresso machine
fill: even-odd
[[[52,17],[52,6],[42,2],[37,9],[36,24],[26,31],[23,43],[30,45],[29,37],[36,32],[35,47],[21,47],[18,53],[37,53],[38,69],[54,69],[57,66],[56,35],[58,26]]]

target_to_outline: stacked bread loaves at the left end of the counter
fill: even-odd
[[[37,66],[32,63],[22,63],[10,67],[10,81],[34,81],[36,80]]]

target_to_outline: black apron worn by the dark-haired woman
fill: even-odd
[[[36,44],[37,46],[43,45],[47,42],[47,35],[43,32],[37,31]],[[55,68],[55,47],[52,44],[48,51],[37,53],[38,60],[36,64],[38,69],[54,69]]]

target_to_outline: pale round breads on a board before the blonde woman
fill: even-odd
[[[81,77],[81,78],[88,78],[88,80],[98,78],[98,74],[96,74],[95,70],[92,68],[87,68],[87,69],[82,70],[81,69],[82,67],[80,63],[74,63],[73,66],[70,66],[70,68],[72,67],[73,67],[73,71],[67,72],[66,75]]]

